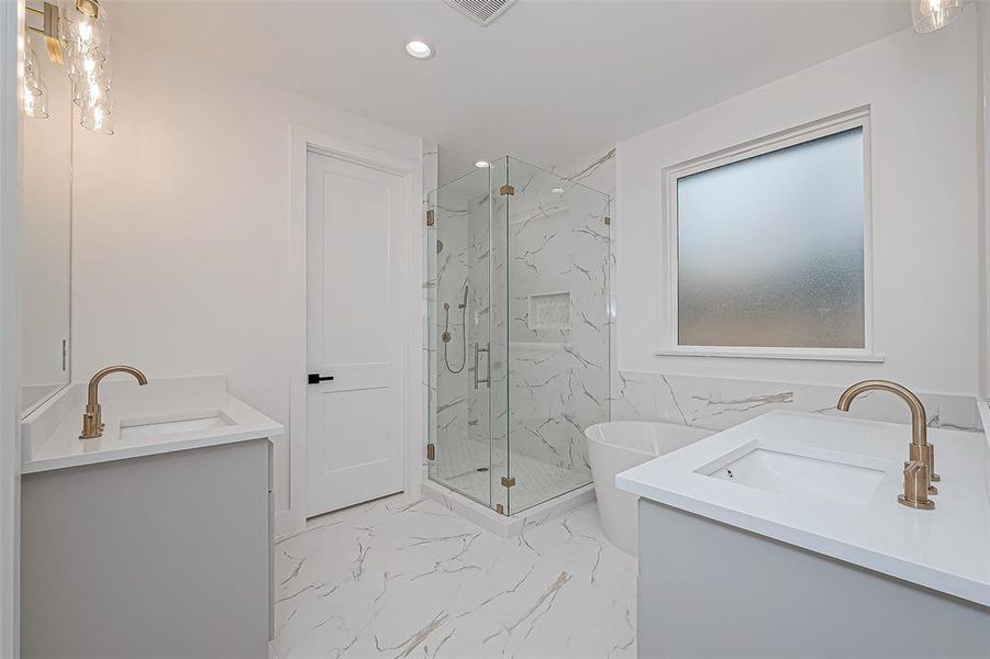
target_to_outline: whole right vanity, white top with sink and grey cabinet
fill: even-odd
[[[639,656],[990,657],[990,445],[928,428],[942,480],[917,510],[910,436],[775,411],[620,473]]]

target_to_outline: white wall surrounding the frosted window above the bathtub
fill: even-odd
[[[864,377],[975,395],[977,22],[880,40],[618,146],[619,368],[844,386]],[[657,357],[668,326],[660,170],[869,104],[875,348],[885,364]]]

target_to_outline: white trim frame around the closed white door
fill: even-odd
[[[422,141],[420,157],[409,158],[354,142],[337,135],[321,133],[301,125],[290,126],[291,153],[291,227],[289,236],[289,509],[276,515],[276,535],[296,533],[305,528],[307,498],[307,154],[318,153],[348,163],[374,167],[402,179],[405,191],[405,232],[401,236],[404,244],[401,280],[404,287],[399,291],[402,324],[402,347],[399,359],[399,406],[401,427],[407,429],[402,440],[402,489],[418,492],[422,482],[425,438],[414,428],[423,428],[420,382],[422,382],[421,359],[422,323],[419,299],[422,297],[422,232],[420,212],[422,210]]]

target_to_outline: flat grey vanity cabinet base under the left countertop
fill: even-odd
[[[268,656],[270,443],[25,473],[25,658]]]

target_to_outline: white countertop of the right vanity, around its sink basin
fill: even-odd
[[[982,433],[928,429],[942,476],[936,507],[901,505],[910,427],[774,411],[620,473],[627,492],[990,606],[990,450]],[[855,456],[880,470],[866,499],[783,494],[713,478],[711,465],[775,440]],[[827,488],[828,483],[815,483]],[[813,488],[811,488],[813,489]]]

